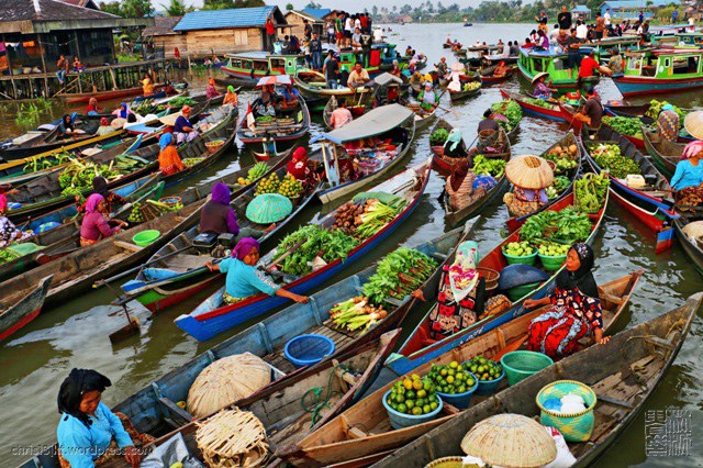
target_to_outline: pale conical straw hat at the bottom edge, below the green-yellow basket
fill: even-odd
[[[542,424],[520,414],[498,414],[476,424],[461,449],[489,465],[511,468],[539,467],[557,458],[557,444]]]

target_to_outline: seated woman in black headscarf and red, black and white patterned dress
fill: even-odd
[[[551,305],[529,324],[529,350],[558,359],[579,350],[579,341],[587,336],[592,335],[598,344],[607,343],[598,286],[591,272],[593,263],[593,250],[588,244],[573,244],[567,254],[566,268],[557,275],[554,293],[525,300],[526,309]]]

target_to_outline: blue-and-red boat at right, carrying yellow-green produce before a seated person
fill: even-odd
[[[585,130],[583,131],[585,132]],[[625,140],[620,133],[607,126],[601,126],[595,134],[595,141],[590,141],[588,135],[581,134],[581,151],[591,168],[598,172],[601,167],[589,152],[589,146],[598,143],[614,143],[621,148],[623,156],[633,159],[639,166],[647,185],[637,189],[628,187],[623,179],[610,176],[610,192],[613,199],[625,210],[637,216],[643,223],[655,232],[663,231],[672,219],[678,218],[673,210],[673,199],[671,198],[671,186],[657,168],[637,151],[635,145]],[[588,146],[583,143],[589,142]]]

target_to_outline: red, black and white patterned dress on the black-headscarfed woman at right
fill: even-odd
[[[579,350],[579,339],[603,330],[601,301],[583,294],[578,288],[557,288],[551,296],[551,309],[529,324],[529,350],[551,358],[569,356]]]

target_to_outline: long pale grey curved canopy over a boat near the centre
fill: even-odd
[[[341,145],[368,138],[395,129],[413,115],[415,115],[413,111],[400,104],[382,105],[353,120],[342,129],[315,136],[311,143],[330,141]]]

